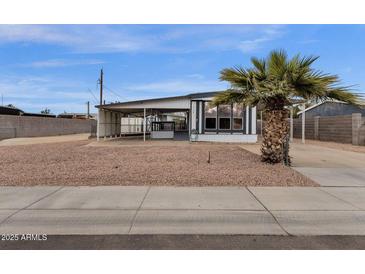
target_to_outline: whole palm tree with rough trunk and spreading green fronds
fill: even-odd
[[[336,99],[358,104],[358,95],[339,85],[336,75],[312,68],[315,56],[288,58],[284,50],[272,51],[266,59],[251,58],[252,68],[226,68],[220,80],[231,88],[213,99],[214,105],[243,103],[257,105],[268,117],[263,130],[261,159],[279,163],[283,160],[283,142],[288,134],[288,107],[309,100]]]

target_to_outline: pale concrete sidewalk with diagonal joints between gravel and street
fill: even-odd
[[[0,233],[365,235],[365,188],[0,187]]]

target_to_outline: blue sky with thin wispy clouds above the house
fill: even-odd
[[[365,92],[364,45],[364,25],[0,25],[0,94],[29,112],[84,112],[102,67],[107,102],[222,90],[222,68],[278,48],[319,55],[315,68]]]

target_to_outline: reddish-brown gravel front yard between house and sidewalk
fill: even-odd
[[[317,185],[288,167],[264,164],[237,145],[89,143],[1,146],[0,185]]]

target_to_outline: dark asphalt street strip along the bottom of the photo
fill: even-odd
[[[46,241],[0,241],[16,250],[353,250],[365,236],[50,235]]]

